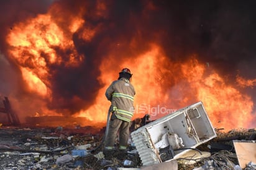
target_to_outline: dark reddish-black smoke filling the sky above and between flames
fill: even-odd
[[[76,51],[86,56],[79,67],[50,66],[53,101],[49,101],[49,108],[68,109],[75,113],[89,107],[103,86],[97,79],[101,59],[114,51],[117,56],[115,64],[118,64],[119,55],[136,56],[146,51],[150,43],[160,45],[171,61],[186,61],[197,54],[200,62],[209,63],[231,82],[237,74],[255,79],[256,1],[103,2],[106,9],[102,15],[96,15],[97,1],[0,1],[0,51],[9,61],[1,61],[0,71],[17,68],[8,57],[5,40],[14,24],[58,6],[58,10],[52,13],[53,19],[65,18],[84,7],[84,27],[100,26],[101,29],[90,41],[80,38],[81,30],[73,34]],[[58,26],[65,29],[65,20]],[[129,44],[134,38],[136,46],[130,49]],[[121,45],[113,49],[113,43]],[[63,58],[71,53],[58,48],[55,51]],[[10,83],[3,74],[0,75],[0,93],[4,93]],[[255,92],[249,90],[249,93]],[[74,96],[79,100],[74,100]]]

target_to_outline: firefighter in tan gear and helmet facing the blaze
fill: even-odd
[[[134,114],[135,89],[130,83],[132,74],[124,68],[106,90],[106,98],[111,101],[111,117],[104,151],[115,150],[114,143],[119,131],[119,150],[126,150],[129,139],[130,120]]]

